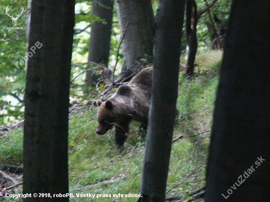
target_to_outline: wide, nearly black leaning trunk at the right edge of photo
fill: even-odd
[[[269,11],[267,0],[232,4],[216,96],[206,202],[270,199]]]

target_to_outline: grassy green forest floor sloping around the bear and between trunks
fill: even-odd
[[[192,80],[183,78],[184,68],[180,68],[177,100],[180,116],[173,134],[167,201],[203,201],[200,198],[194,199],[194,194],[190,193],[205,184],[205,163],[221,57],[221,51],[198,54],[196,74]],[[185,63],[184,57],[181,63]],[[139,125],[132,123],[125,151],[119,154],[114,146],[112,130],[102,136],[95,134],[98,125],[96,113],[97,107],[93,105],[77,107],[77,110],[70,113],[69,190],[75,196],[70,201],[137,201],[136,197],[129,197],[128,194],[139,194],[145,137],[139,134]],[[22,158],[23,130],[0,132],[0,163],[19,166],[23,162]],[[17,182],[22,181],[22,175],[6,170],[4,172]],[[10,180],[0,175],[0,201],[21,201],[3,197],[5,193],[22,193],[21,184],[10,188],[11,185]],[[76,194],[95,194],[95,197],[77,197]]]

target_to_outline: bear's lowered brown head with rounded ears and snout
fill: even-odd
[[[113,119],[113,104],[110,100],[107,101],[101,101],[98,100],[97,104],[99,106],[98,109],[98,128],[96,130],[96,133],[99,135],[104,135],[109,129],[112,128],[114,124],[114,119]]]

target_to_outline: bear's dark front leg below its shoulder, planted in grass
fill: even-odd
[[[123,147],[129,134],[129,125],[131,120],[123,121],[114,125],[114,142],[118,148]]]

